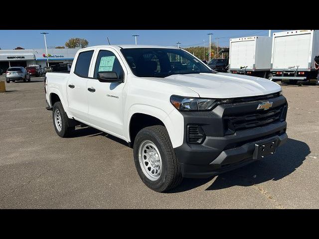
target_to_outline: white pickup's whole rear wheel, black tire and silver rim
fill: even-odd
[[[74,130],[74,126],[68,126],[68,116],[66,115],[61,102],[56,102],[52,110],[53,125],[56,133],[62,137],[68,137]]]

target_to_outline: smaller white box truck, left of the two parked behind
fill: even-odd
[[[229,71],[268,78],[270,74],[272,37],[232,38],[229,42]]]

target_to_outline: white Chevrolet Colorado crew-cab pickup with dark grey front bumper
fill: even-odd
[[[86,124],[124,139],[158,192],[273,154],[288,137],[277,83],[217,73],[174,47],[83,48],[70,73],[48,72],[44,82],[59,136]]]

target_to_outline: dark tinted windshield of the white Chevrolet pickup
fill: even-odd
[[[121,49],[121,52],[133,74],[138,77],[216,73],[181,49],[127,48]]]

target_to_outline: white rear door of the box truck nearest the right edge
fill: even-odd
[[[308,68],[311,33],[277,36],[274,40],[274,69]]]

